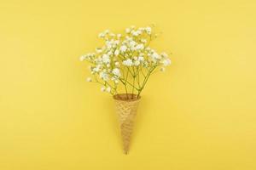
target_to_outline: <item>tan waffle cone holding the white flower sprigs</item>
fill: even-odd
[[[116,111],[119,118],[119,127],[123,140],[123,148],[125,154],[128,154],[133,122],[137,114],[137,105],[139,99],[135,94],[117,94],[113,96]]]

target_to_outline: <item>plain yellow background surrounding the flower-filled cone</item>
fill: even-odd
[[[0,2],[0,169],[256,169],[256,2]],[[130,155],[79,56],[155,23],[172,66],[143,92]]]

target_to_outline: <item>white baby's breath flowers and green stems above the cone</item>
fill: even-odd
[[[168,54],[158,53],[149,47],[156,34],[151,26],[126,28],[123,34],[103,31],[98,35],[104,41],[102,48],[84,54],[81,61],[90,63],[91,77],[88,82],[102,84],[101,90],[110,94],[119,94],[119,84],[125,93],[139,96],[145,87],[148,77],[160,68],[171,64]]]

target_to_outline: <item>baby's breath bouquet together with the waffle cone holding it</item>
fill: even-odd
[[[125,154],[128,153],[132,125],[140,95],[154,71],[165,71],[171,64],[166,53],[149,47],[156,37],[153,26],[126,28],[121,34],[103,31],[102,48],[80,57],[90,63],[88,82],[101,84],[101,90],[115,99]]]

